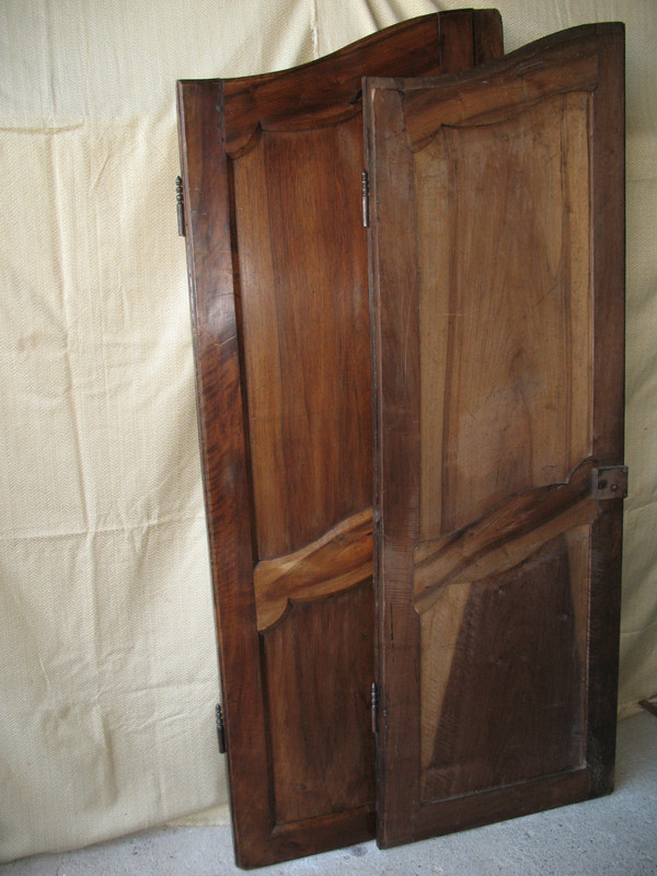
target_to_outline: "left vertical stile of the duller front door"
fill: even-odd
[[[414,199],[408,196],[414,181],[412,157],[405,149],[401,88],[379,91],[378,82],[365,80],[364,100],[371,192],[368,241],[376,396],[374,552],[380,698],[377,812],[379,844],[387,845],[389,830],[408,839],[413,835],[413,816],[419,803],[417,678],[405,683],[399,673],[391,678],[388,672],[389,664],[399,660],[413,666],[418,646],[417,616],[408,610],[410,597],[404,584],[413,572],[413,552],[419,535],[419,440],[412,428],[419,420],[419,311],[413,283],[415,238],[404,233],[414,226]],[[380,129],[385,136],[377,136]],[[381,218],[389,219],[393,212],[395,222],[382,224]],[[381,297],[382,275],[394,295]],[[391,348],[399,354],[382,353]],[[407,477],[402,476],[401,459],[407,465]],[[392,825],[382,806],[388,795],[399,803],[399,817]]]

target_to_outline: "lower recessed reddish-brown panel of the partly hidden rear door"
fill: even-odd
[[[326,601],[292,606],[263,634],[276,823],[365,808],[373,799],[374,737],[362,721],[369,691],[350,683],[371,668],[371,590],[369,578]],[[345,615],[358,618],[359,629],[344,623]],[[309,660],[318,639],[321,662]],[[304,708],[290,708],[300,692]]]

